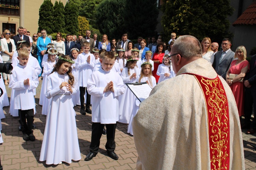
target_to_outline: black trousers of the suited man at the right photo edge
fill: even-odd
[[[256,129],[256,90],[251,88],[245,88],[244,96],[244,114],[245,124],[249,124],[251,121],[252,106],[254,107],[254,119],[251,122],[251,128]]]

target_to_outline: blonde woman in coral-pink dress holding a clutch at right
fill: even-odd
[[[226,81],[230,86],[236,100],[239,116],[244,115],[244,85],[242,79],[249,71],[249,62],[246,59],[246,49],[244,46],[236,48],[235,58],[227,71]],[[230,80],[230,74],[235,74],[235,78]]]

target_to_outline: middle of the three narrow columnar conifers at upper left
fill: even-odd
[[[53,7],[53,24],[52,27],[53,32],[64,32],[65,27],[65,21],[64,21],[64,6],[62,2],[55,1],[54,7]]]

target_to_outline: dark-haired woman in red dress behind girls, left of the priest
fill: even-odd
[[[152,58],[152,61],[154,61],[154,70],[152,71],[152,74],[156,78],[157,83],[160,77],[157,75],[157,69],[158,69],[158,66],[163,63],[164,51],[165,49],[164,49],[163,42],[159,42],[159,44],[157,45],[157,50],[153,54],[153,58]]]

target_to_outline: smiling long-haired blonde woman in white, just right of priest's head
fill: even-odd
[[[211,50],[211,44],[211,39],[208,37],[205,37],[201,42],[203,58],[206,59],[212,65],[214,60],[214,54],[213,51]]]

